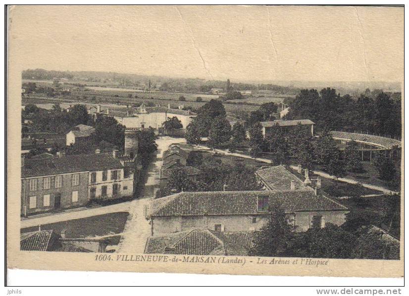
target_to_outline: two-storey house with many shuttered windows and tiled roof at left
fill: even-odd
[[[22,156],[21,214],[60,211],[90,201],[133,195],[134,170],[112,153],[65,155],[47,159]]]

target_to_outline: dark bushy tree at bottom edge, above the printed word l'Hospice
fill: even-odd
[[[309,228],[301,233],[291,250],[294,256],[309,258],[353,258],[356,236],[341,227],[326,223],[324,228]]]

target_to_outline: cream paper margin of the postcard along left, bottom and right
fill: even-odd
[[[304,6],[308,9],[307,6]],[[11,18],[12,18],[11,7]],[[289,7],[288,9],[291,9]],[[90,20],[91,21],[91,20]],[[281,275],[281,276],[332,276],[332,277],[403,277],[404,276],[404,198],[401,199],[401,259],[400,260],[361,260],[361,259],[323,259],[328,265],[270,265],[257,264],[256,257],[241,257],[246,260],[240,264],[190,263],[190,262],[143,262],[116,261],[117,254],[111,254],[112,261],[96,261],[96,254],[21,252],[20,238],[20,145],[21,145],[21,71],[24,60],[29,56],[23,48],[16,46],[12,21],[8,23],[7,47],[7,197],[6,197],[6,253],[7,268],[35,270],[78,270],[78,271],[130,271],[167,272],[198,274],[236,274],[236,275]],[[50,69],[51,70],[51,69]],[[86,69],[84,69],[86,70]],[[402,98],[404,98],[404,80]],[[403,102],[404,100],[402,100]],[[404,122],[404,106],[402,106]],[[404,127],[402,127],[404,129]],[[402,139],[403,141],[403,139]],[[404,142],[402,143],[404,151]],[[402,153],[402,197],[404,196],[404,153]],[[128,254],[136,255],[136,254]],[[171,259],[174,255],[168,255]],[[178,256],[183,257],[183,256]],[[217,256],[217,259],[220,256]],[[279,259],[278,257],[276,257]],[[169,260],[170,260],[169,259]],[[270,257],[264,258],[268,262]],[[287,258],[290,261],[296,258]],[[249,262],[252,260],[253,262]],[[315,259],[313,259],[315,260]]]

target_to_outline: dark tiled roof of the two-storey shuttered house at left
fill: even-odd
[[[50,159],[28,158],[21,168],[21,177],[121,168],[121,162],[110,153],[67,155]]]

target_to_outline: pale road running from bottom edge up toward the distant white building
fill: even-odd
[[[131,202],[128,220],[126,221],[123,235],[116,248],[118,253],[142,254],[145,251],[147,238],[151,236],[151,224],[145,218],[144,209],[149,207],[159,189],[159,172],[162,167],[162,155],[172,143],[185,142],[184,138],[168,136],[156,140],[157,154],[148,167],[148,178],[140,198]]]

